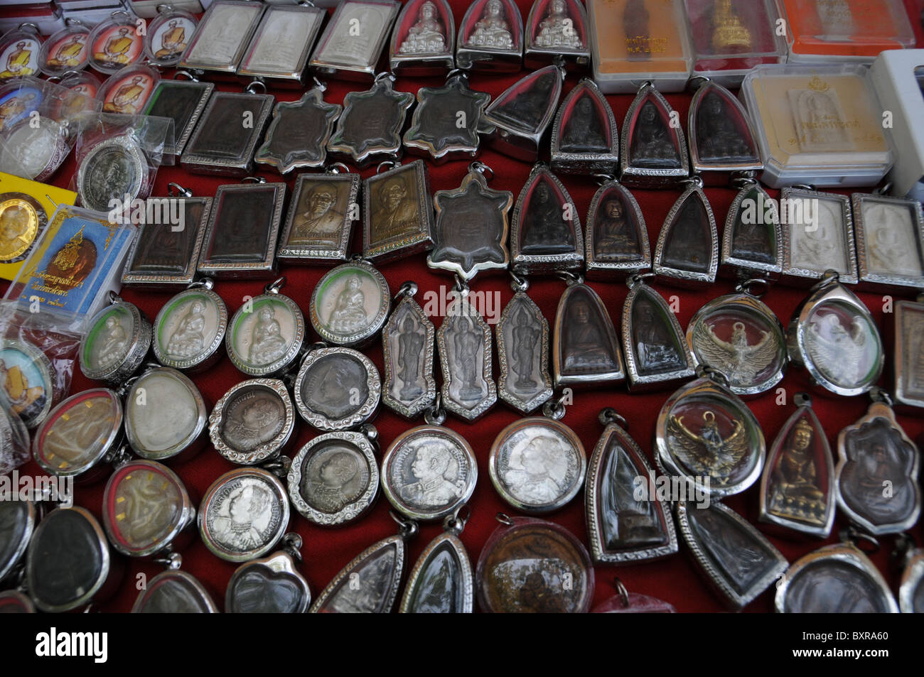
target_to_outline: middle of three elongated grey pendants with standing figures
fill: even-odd
[[[492,376],[491,327],[468,296],[456,296],[436,332],[443,369],[443,405],[447,411],[473,421],[497,402]]]

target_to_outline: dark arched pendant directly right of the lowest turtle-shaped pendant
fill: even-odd
[[[584,238],[571,196],[545,163],[536,163],[517,198],[510,228],[514,270],[523,273],[577,269]]]

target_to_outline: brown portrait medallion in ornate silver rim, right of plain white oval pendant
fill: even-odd
[[[257,465],[282,452],[295,429],[286,384],[275,379],[241,381],[215,404],[209,436],[218,453],[237,465]]]

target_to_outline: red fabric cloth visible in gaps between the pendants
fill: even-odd
[[[920,16],[920,4],[913,0],[906,0],[909,11],[912,11],[912,23],[915,26],[918,36],[918,44],[921,44],[921,27],[918,21]],[[450,0],[453,7],[456,27],[465,13],[468,3],[465,0]],[[523,13],[524,21],[529,13],[528,0],[517,0],[517,5]],[[471,87],[475,90],[488,91],[492,97],[498,96],[501,92],[513,84],[518,78],[525,75],[525,71],[516,76],[490,76],[475,74],[471,78]],[[171,73],[164,73],[164,77],[171,77]],[[439,85],[442,79],[407,79],[400,78],[397,80],[395,88],[401,91],[417,92],[419,87]],[[570,91],[577,83],[577,78],[569,75],[565,83],[565,92]],[[342,103],[343,97],[347,91],[365,89],[352,83],[328,80],[328,91],[325,94],[325,100],[332,103]],[[235,83],[219,83],[218,89],[227,91],[239,91],[240,86]],[[301,91],[272,91],[278,100],[291,101],[300,96]],[[690,95],[687,93],[668,94],[667,100],[674,106],[680,114],[680,119],[686,121],[687,107],[690,102]],[[620,125],[620,134],[623,133],[622,121],[626,115],[626,110],[632,102],[631,95],[619,95],[608,97],[611,103],[616,120]],[[901,151],[899,149],[899,151]],[[545,152],[548,152],[546,143]],[[547,160],[547,157],[545,158]],[[489,164],[495,172],[491,182],[491,187],[502,188],[513,191],[517,196],[521,187],[529,175],[530,165],[528,163],[518,162],[500,155],[493,151],[485,151],[480,160]],[[444,188],[457,187],[462,177],[467,172],[468,162],[451,162],[440,166],[428,163],[430,167],[430,178],[432,191]],[[75,171],[73,160],[67,164],[55,175],[54,183],[59,186],[67,186],[70,176]],[[374,168],[365,169],[361,172],[363,177],[369,176],[374,172]],[[266,176],[269,181],[279,180],[279,175],[272,171],[262,171],[261,175]],[[584,177],[564,176],[565,187],[570,192],[572,199],[577,204],[582,224],[586,221],[587,210],[590,206],[590,199],[595,192],[597,185],[594,181]],[[181,185],[191,188],[196,195],[213,196],[216,187],[224,183],[232,183],[233,179],[224,179],[219,177],[189,175],[178,167],[162,167],[157,174],[156,184],[152,195],[166,195],[167,183],[176,181]],[[288,179],[288,185],[291,188],[293,184],[292,177]],[[871,189],[871,187],[870,187]],[[291,192],[291,191],[290,191]],[[649,239],[653,249],[657,241],[659,230],[663,224],[671,205],[680,194],[679,190],[633,190],[638,203],[641,205],[646,222],[648,224]],[[725,215],[728,211],[729,204],[734,198],[736,191],[731,188],[708,188],[707,193],[711,201],[713,212],[715,212],[716,221],[719,224],[720,231],[724,223]],[[773,197],[778,197],[776,191],[771,191]],[[721,232],[720,232],[721,236]],[[361,246],[361,236],[359,228],[355,229],[353,237],[353,246],[351,251],[357,251]],[[282,274],[286,275],[288,280],[283,290],[288,296],[292,296],[301,308],[305,311],[308,309],[311,290],[321,278],[322,274],[328,269],[324,267],[314,268],[296,268],[292,266],[283,266]],[[422,303],[422,294],[428,290],[439,290],[441,287],[444,292],[449,291],[452,286],[452,278],[439,272],[432,272],[427,268],[423,255],[418,255],[407,260],[400,260],[394,263],[381,266],[381,270],[388,280],[393,293],[398,286],[406,280],[414,280],[419,284],[418,300]],[[480,274],[475,278],[471,287],[473,290],[498,290],[501,296],[501,308],[510,300],[513,295],[505,275],[488,275]],[[216,291],[225,299],[229,312],[234,312],[241,304],[242,297],[246,295],[256,296],[261,293],[263,286],[261,281],[252,282],[221,282],[216,285]],[[550,324],[554,321],[555,308],[559,296],[565,289],[565,284],[554,278],[534,278],[530,279],[529,295],[539,304]],[[597,291],[603,299],[604,304],[609,310],[611,316],[619,321],[623,301],[626,298],[626,285],[615,282],[592,282],[591,286]],[[676,295],[679,299],[679,309],[677,319],[686,329],[687,323],[693,314],[707,301],[716,296],[728,294],[733,291],[733,284],[730,281],[719,281],[709,288],[699,291],[688,291],[675,289],[655,284],[655,288],[663,294],[670,297]],[[799,304],[802,298],[807,294],[807,289],[785,288],[777,286],[772,288],[770,293],[764,298],[765,302],[773,309],[784,325],[788,322],[793,310]],[[124,289],[122,296],[132,303],[135,303],[150,320],[153,320],[157,311],[163,306],[164,302],[172,296],[170,292],[139,292],[132,289]],[[895,298],[911,297],[896,295]],[[892,317],[883,313],[883,300],[881,295],[861,294],[862,300],[869,306],[878,326],[883,332],[886,341],[887,363],[891,365],[892,361]],[[306,312],[307,318],[307,312]],[[433,318],[434,323],[439,326],[441,319]],[[617,331],[619,327],[616,327]],[[311,336],[310,340],[314,340]],[[366,355],[371,357],[376,366],[382,370],[382,347],[381,341],[365,349]],[[497,359],[494,357],[494,376],[497,377]],[[95,383],[88,381],[79,373],[74,376],[71,384],[71,393],[78,393],[90,388]],[[888,371],[888,369],[887,369]],[[230,361],[223,359],[217,366],[209,371],[193,377],[199,386],[201,393],[206,400],[212,405],[225,391],[238,381],[244,380],[244,376],[235,369]],[[883,377],[883,384],[888,384],[888,374]],[[775,397],[772,393],[764,394],[757,399],[748,401],[754,414],[758,417],[760,425],[763,428],[764,436],[767,439],[768,448],[772,444],[777,431],[784,424],[784,421],[793,412],[792,397],[800,390],[807,387],[806,373],[799,369],[790,369],[786,374],[782,386],[786,391],[786,405],[776,405]],[[590,457],[594,446],[600,436],[602,427],[597,422],[598,412],[604,406],[613,406],[628,421],[629,433],[638,441],[639,445],[649,454],[652,449],[652,435],[654,430],[655,418],[658,415],[661,406],[667,399],[670,392],[632,394],[626,393],[625,388],[606,388],[601,390],[580,390],[576,389],[574,405],[567,408],[564,419],[565,424],[577,432],[584,448]],[[862,416],[868,405],[866,397],[834,397],[822,394],[814,394],[815,410],[821,419],[821,423],[827,431],[828,439],[832,445],[836,444],[837,434],[845,426],[853,423],[858,417]],[[465,532],[462,534],[462,541],[465,543],[472,565],[475,566],[480,550],[487,538],[498,523],[494,516],[498,512],[507,514],[517,514],[509,505],[503,502],[492,488],[488,477],[488,454],[491,450],[492,442],[497,433],[505,428],[509,423],[517,420],[519,414],[511,408],[501,404],[495,405],[488,415],[474,424],[468,424],[455,417],[448,417],[446,425],[457,432],[461,433],[468,439],[475,451],[479,461],[479,481],[478,486],[470,502],[471,519]],[[906,429],[908,435],[917,439],[924,432],[924,420],[921,413],[899,416],[899,422]],[[397,437],[401,432],[413,425],[422,423],[422,421],[408,422],[397,417],[385,407],[380,408],[378,417],[374,420],[375,426],[379,430],[382,451]],[[310,441],[315,436],[315,431],[299,421],[296,434],[293,441],[287,449],[289,456],[294,455],[298,449]],[[836,461],[836,450],[834,450]],[[381,455],[379,456],[381,461]],[[185,482],[188,490],[193,495],[193,500],[198,502],[204,491],[209,487],[215,478],[233,469],[235,466],[225,461],[218,455],[213,448],[207,447],[200,455],[187,463],[181,465],[172,465],[176,473]],[[20,473],[30,472],[38,473],[39,470],[34,463],[30,463],[20,468]],[[105,482],[101,481],[88,486],[78,486],[76,488],[76,502],[91,510],[97,517],[101,517],[101,508],[103,502],[103,488]],[[739,494],[727,500],[727,503],[741,514],[744,514],[748,520],[757,524],[758,516],[758,485],[751,487],[743,494]],[[381,493],[381,492],[380,492]],[[303,555],[305,562],[301,567],[302,573],[308,578],[312,593],[316,596],[321,592],[324,586],[334,577],[334,575],[355,557],[359,551],[370,546],[375,541],[390,536],[395,533],[395,523],[388,515],[391,506],[380,495],[378,502],[370,514],[350,526],[340,529],[322,529],[319,526],[310,524],[293,510],[293,516],[289,523],[289,530],[297,531],[304,539]],[[577,538],[587,543],[587,531],[584,523],[584,503],[583,494],[564,509],[548,515],[548,519],[565,526]],[[836,534],[839,528],[845,526],[845,519],[838,514],[833,535],[824,543],[832,543],[836,540]],[[420,533],[417,538],[409,543],[409,560],[408,566],[416,561],[419,553],[426,544],[435,538],[441,532],[441,526],[438,524],[424,524],[420,527]],[[924,540],[921,526],[914,529],[914,535],[918,541]],[[679,535],[678,535],[679,538]],[[824,543],[819,540],[808,537],[800,538],[793,536],[791,538],[770,537],[774,545],[781,550],[784,556],[794,562],[798,557],[807,554]],[[889,550],[891,550],[892,538],[882,538],[881,551],[874,556],[874,562],[879,566],[882,574],[897,590],[898,581],[901,575],[900,570],[896,569],[889,561]],[[234,572],[236,565],[230,562],[224,562],[214,557],[199,538],[194,538],[185,550],[182,550],[183,569],[188,573],[198,577],[201,582],[207,586],[213,593],[216,602],[222,606],[224,604],[225,585],[231,574]],[[95,607],[97,611],[128,611],[138,594],[136,586],[137,574],[146,574],[149,578],[158,573],[160,567],[152,562],[128,561],[125,578],[121,584],[116,597],[106,603],[99,604]],[[674,604],[677,611],[723,611],[723,603],[720,598],[713,595],[705,580],[700,577],[698,566],[689,557],[688,550],[684,544],[680,546],[680,552],[667,560],[660,562],[650,562],[626,567],[596,567],[596,591],[594,594],[594,605],[597,605],[607,598],[614,596],[613,579],[619,576],[631,592],[644,593],[662,598]],[[747,611],[772,611],[772,592],[771,589],[765,592],[760,598],[756,599],[748,607]]]

